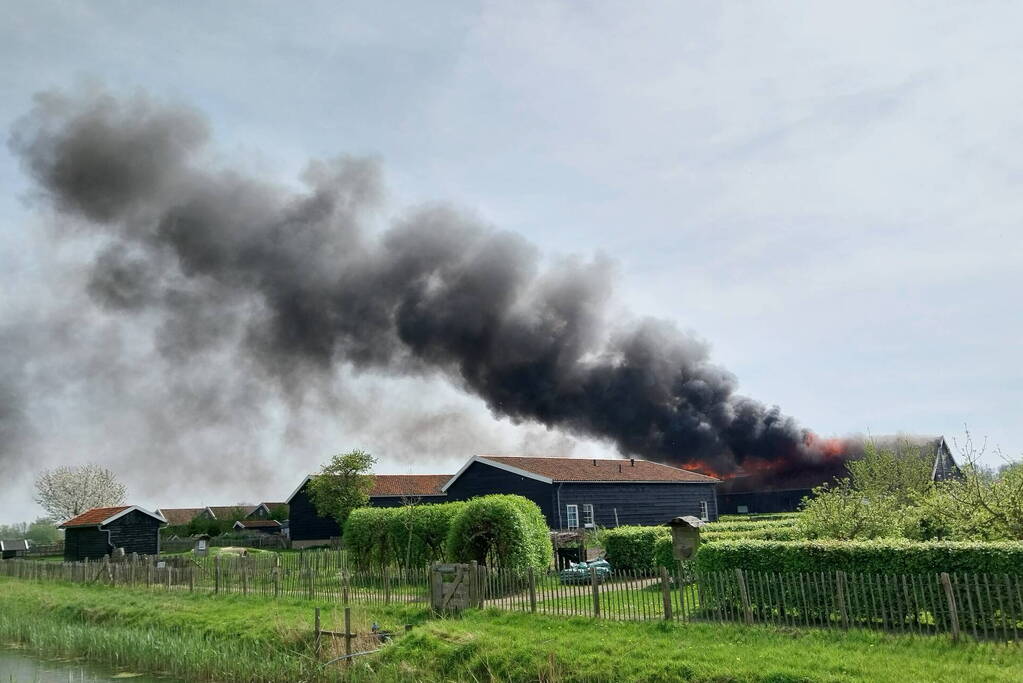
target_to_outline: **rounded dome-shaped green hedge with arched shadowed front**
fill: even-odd
[[[451,521],[447,557],[489,566],[546,570],[553,546],[543,512],[522,496],[473,498]]]

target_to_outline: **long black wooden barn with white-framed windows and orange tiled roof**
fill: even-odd
[[[478,455],[447,482],[449,500],[494,493],[536,503],[553,530],[717,519],[718,480],[636,459]]]

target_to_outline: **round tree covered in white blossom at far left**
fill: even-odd
[[[71,519],[93,507],[122,505],[127,490],[117,474],[97,464],[62,465],[36,480],[36,502],[50,516]]]

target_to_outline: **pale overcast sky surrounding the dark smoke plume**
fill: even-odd
[[[395,214],[447,200],[551,258],[609,257],[616,305],[693,330],[743,394],[818,434],[966,423],[1019,455],[1020,26],[1011,2],[37,1],[0,22],[0,129],[40,90],[99,82],[197,107],[224,160],[277,182],[370,155]],[[50,247],[6,147],[0,188],[0,314],[77,299],[54,276],[76,252]],[[131,466],[130,397],[100,412],[86,382],[31,403],[0,522],[35,516],[32,476],[60,462],[176,507],[283,499],[353,447],[396,472],[612,452],[439,378],[339,381],[335,406],[271,409],[234,448],[183,439],[159,469]]]

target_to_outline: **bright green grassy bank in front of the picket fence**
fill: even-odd
[[[195,680],[331,680],[312,642],[312,604],[0,579],[0,639],[48,654]],[[324,627],[340,630],[328,609]],[[1017,647],[946,639],[721,625],[620,624],[496,611],[427,621],[359,608],[356,629],[416,624],[361,658],[356,681],[1018,681]],[[332,644],[332,651],[340,649]],[[357,649],[371,647],[363,640]],[[328,646],[329,650],[331,646]],[[328,658],[328,657],[327,657]]]

